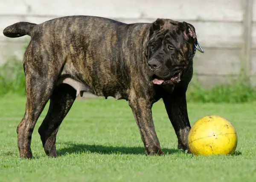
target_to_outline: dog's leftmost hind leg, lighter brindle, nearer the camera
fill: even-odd
[[[32,133],[54,87],[54,82],[52,82],[52,78],[48,78],[50,77],[48,74],[42,76],[38,71],[29,69],[26,69],[26,111],[17,126],[20,158],[32,158],[30,148]]]

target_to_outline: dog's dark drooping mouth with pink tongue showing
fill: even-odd
[[[179,83],[181,81],[181,77],[183,74],[183,69],[179,69],[177,71],[174,71],[173,74],[171,74],[171,77],[161,78],[158,77],[156,74],[153,75],[152,82],[156,85],[166,85],[166,84],[175,84]]]

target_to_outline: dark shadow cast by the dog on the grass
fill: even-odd
[[[98,153],[98,154],[145,154],[143,147],[124,147],[124,146],[103,146],[103,145],[86,145],[86,144],[72,144],[65,143],[68,147],[57,149],[58,156],[66,154],[78,153]],[[178,149],[162,149],[165,154],[183,153]]]

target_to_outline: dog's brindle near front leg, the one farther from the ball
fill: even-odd
[[[152,104],[144,98],[134,98],[133,100],[129,100],[129,105],[139,127],[146,154],[162,155],[163,151],[160,148],[160,142],[157,138],[152,119]]]

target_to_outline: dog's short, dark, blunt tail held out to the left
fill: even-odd
[[[18,22],[15,23],[13,25],[10,25],[8,27],[6,27],[3,30],[3,34],[6,37],[11,37],[11,38],[15,38],[15,37],[22,37],[24,35],[29,35],[31,36],[31,33],[33,31],[33,28],[36,26],[37,24],[35,23],[29,23],[29,22]]]

